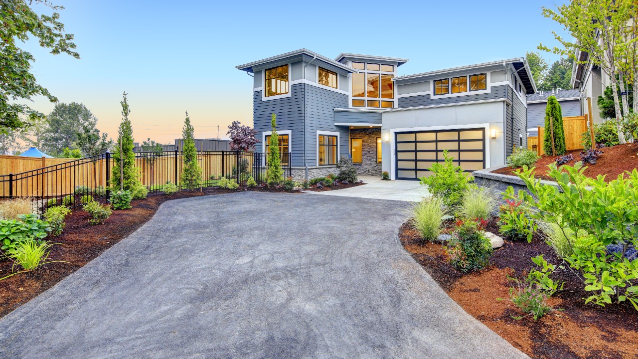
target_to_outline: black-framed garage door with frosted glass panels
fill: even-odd
[[[395,141],[397,179],[430,176],[427,169],[444,161],[445,149],[466,172],[485,168],[485,128],[397,132]]]

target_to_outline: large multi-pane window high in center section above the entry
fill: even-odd
[[[363,70],[353,73],[352,107],[394,108],[394,65],[380,63],[351,63]]]

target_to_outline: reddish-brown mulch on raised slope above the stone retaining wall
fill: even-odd
[[[600,151],[602,151],[603,154],[598,157],[597,164],[585,164],[588,167],[584,172],[585,176],[596,178],[598,174],[607,174],[607,176],[605,176],[605,181],[609,182],[612,179],[618,178],[618,175],[625,171],[631,172],[635,168],[638,168],[638,142],[619,144],[609,148],[601,148]],[[567,165],[573,166],[576,162],[581,160],[580,149],[567,151],[567,154],[569,153],[574,155],[574,160],[567,162]],[[547,176],[546,170],[547,165],[556,162],[556,158],[558,158],[558,156],[542,156],[535,164],[537,169],[536,178],[553,181],[551,177]],[[516,176],[516,171],[519,169],[521,169],[521,167],[503,167],[493,172]]]

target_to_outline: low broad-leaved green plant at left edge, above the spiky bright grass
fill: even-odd
[[[33,213],[18,215],[17,220],[0,220],[0,249],[12,250],[18,243],[40,241],[50,231],[49,224]]]

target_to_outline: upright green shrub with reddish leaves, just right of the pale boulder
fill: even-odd
[[[500,232],[510,240],[526,238],[528,242],[531,242],[538,225],[531,218],[531,210],[524,204],[525,196],[521,191],[519,190],[519,194],[514,194],[514,188],[508,186],[503,192],[505,204],[498,210],[498,225]]]

